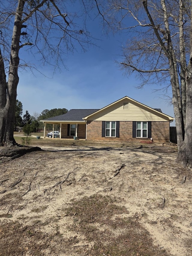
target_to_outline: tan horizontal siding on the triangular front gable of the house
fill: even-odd
[[[129,109],[124,109],[123,104],[129,102]],[[150,112],[149,112],[150,111]],[[93,121],[169,121],[169,118],[155,110],[126,99],[113,104],[98,113],[88,117]]]

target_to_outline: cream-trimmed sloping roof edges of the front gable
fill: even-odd
[[[168,116],[168,115],[162,113],[161,109],[157,109],[157,108],[153,109],[153,108],[151,108],[151,107],[149,107],[149,106],[147,106],[147,105],[145,105],[145,104],[140,103],[139,101],[135,101],[134,99],[129,98],[128,96],[125,96],[125,97],[123,97],[123,98],[121,98],[121,99],[119,99],[119,100],[117,100],[117,101],[115,101],[115,102],[113,102],[113,103],[107,105],[106,107],[101,108],[101,109],[98,110],[97,112],[94,112],[94,113],[92,113],[92,114],[90,114],[90,115],[88,115],[88,116],[85,116],[83,119],[86,121],[86,119],[88,119],[88,118],[90,119],[90,117],[92,118],[95,114],[98,114],[98,113],[102,112],[103,110],[106,110],[106,109],[108,109],[108,108],[110,109],[111,106],[113,106],[113,105],[115,105],[115,104],[117,104],[117,103],[119,103],[120,101],[123,101],[123,100],[128,100],[128,101],[131,102],[132,104],[135,104],[135,105],[139,106],[139,107],[142,108],[142,109],[146,109],[146,110],[147,110],[148,112],[150,112],[150,113],[151,113],[151,112],[155,113],[157,116],[161,115],[161,117],[162,117],[163,119],[166,119],[166,120],[169,120],[169,121],[173,121],[173,120],[174,120],[173,117]],[[161,113],[161,114],[160,114],[160,113]],[[102,115],[102,114],[101,114],[101,115]],[[93,118],[93,119],[94,119],[94,118]]]

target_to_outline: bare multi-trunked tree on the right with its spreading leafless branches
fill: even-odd
[[[172,87],[177,161],[192,166],[191,2],[109,0],[98,6],[113,29],[128,35],[121,63],[128,74],[136,72],[141,86]]]

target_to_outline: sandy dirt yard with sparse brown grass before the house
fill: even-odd
[[[1,159],[0,255],[192,255],[192,175],[176,146],[42,149]]]

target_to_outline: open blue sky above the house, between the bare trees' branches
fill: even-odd
[[[106,37],[101,27],[95,26],[96,22],[90,22],[89,28],[93,36],[100,39],[96,42],[99,47],[90,46],[86,53],[65,56],[67,69],[61,67],[62,71],[53,75],[51,67],[35,63],[45,76],[39,72],[19,73],[17,99],[22,102],[23,114],[26,110],[30,115],[40,114],[53,108],[99,109],[128,96],[149,107],[161,108],[163,113],[174,117],[173,106],[162,99],[161,91],[153,93],[152,85],[137,89],[140,81],[134,74],[125,76],[116,63],[123,61],[121,46],[126,37]]]

